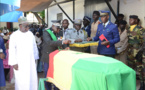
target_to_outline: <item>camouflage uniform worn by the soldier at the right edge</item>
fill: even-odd
[[[144,39],[143,39],[144,38]],[[136,69],[140,73],[141,82],[143,81],[143,69],[145,63],[145,54],[142,52],[143,42],[145,43],[145,33],[144,29],[136,26],[133,30],[129,28],[128,30],[128,65]],[[145,53],[145,50],[144,50]]]

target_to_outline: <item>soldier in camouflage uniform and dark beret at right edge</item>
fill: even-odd
[[[144,29],[137,25],[138,16],[131,15],[129,19],[130,27],[128,30],[128,65],[140,73],[141,87],[144,88],[144,54],[143,54],[143,32]]]

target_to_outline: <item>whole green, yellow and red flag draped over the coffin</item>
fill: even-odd
[[[136,90],[135,71],[116,59],[71,50],[49,57],[48,82],[61,90]]]

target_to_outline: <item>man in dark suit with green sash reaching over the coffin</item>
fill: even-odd
[[[47,71],[49,68],[49,54],[55,50],[58,49],[58,47],[62,47],[65,44],[69,44],[70,40],[58,40],[57,35],[59,34],[59,31],[61,30],[59,21],[52,21],[53,25],[51,30],[47,29],[43,31],[43,44],[42,44],[42,57],[41,61],[44,62],[44,73],[45,78],[47,76]],[[48,82],[45,82],[45,87],[47,90],[51,90],[51,84]]]

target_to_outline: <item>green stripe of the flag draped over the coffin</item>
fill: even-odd
[[[71,90],[136,90],[135,71],[105,56],[81,58],[72,66]]]

